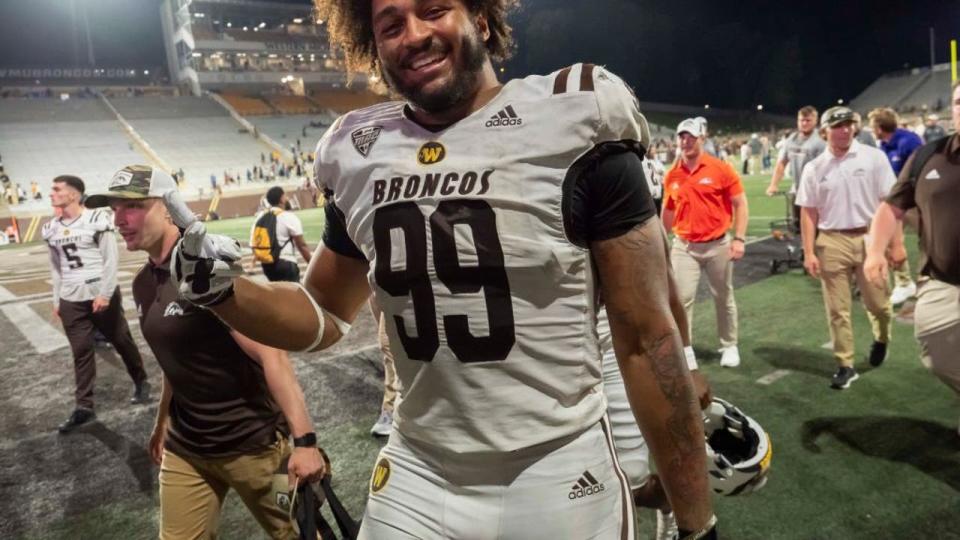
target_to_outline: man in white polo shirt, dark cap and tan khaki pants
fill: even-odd
[[[858,378],[853,367],[850,319],[852,277],[856,277],[873,327],[870,364],[879,366],[887,355],[893,319],[890,291],[864,276],[864,235],[896,177],[882,151],[855,140],[855,119],[850,109],[827,110],[820,129],[826,134],[827,151],[804,167],[797,205],[801,207],[803,267],[814,278],[820,278],[833,354],[839,364],[830,386],[842,390]],[[897,235],[894,243],[902,246],[902,234]],[[894,252],[902,253],[902,249]]]

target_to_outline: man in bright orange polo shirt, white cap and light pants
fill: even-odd
[[[680,159],[664,178],[663,225],[676,235],[670,258],[693,325],[693,302],[700,272],[707,275],[717,309],[720,365],[740,365],[737,303],[733,298],[733,261],[743,257],[747,197],[733,168],[703,151],[702,124],[688,118],[677,126]],[[727,235],[733,225],[734,235]],[[690,336],[693,329],[690,328]]]

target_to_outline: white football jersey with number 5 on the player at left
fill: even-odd
[[[74,220],[56,217],[44,224],[43,240],[59,259],[61,298],[79,302],[100,294],[100,237],[108,231],[113,231],[113,214],[105,209],[86,209]]]

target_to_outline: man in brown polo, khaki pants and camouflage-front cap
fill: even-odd
[[[87,201],[109,204],[127,249],[149,255],[134,278],[133,297],[163,371],[149,449],[160,465],[160,538],[216,537],[230,488],[271,538],[295,538],[273,476],[285,461],[291,484],[324,471],[303,392],[285,352],[180,298],[169,271],[180,232],[162,200],[175,192],[168,174],[135,165]]]

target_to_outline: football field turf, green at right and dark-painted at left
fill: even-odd
[[[835,369],[819,284],[797,270],[768,277],[768,253],[783,244],[766,238],[782,219],[782,197],[763,195],[767,175],[744,180],[750,203],[748,259],[737,267],[743,363],[718,366],[719,344],[709,301],[694,317],[695,347],[714,393],[739,405],[769,431],[770,481],[758,494],[716,499],[722,538],[960,539],[960,438],[957,399],[918,361],[912,327],[895,323],[889,360],[850,389],[828,388]],[[306,239],[319,240],[320,210],[299,212]],[[210,231],[246,241],[250,218],[208,223]],[[915,238],[908,240],[916,261]],[[121,286],[143,257],[121,249]],[[36,337],[17,321],[58,322],[49,306],[45,248],[4,250],[0,257],[0,538],[147,539],[157,537],[157,468],[145,444],[155,404],[131,407],[129,381],[109,351],[98,363],[99,422],[71,436],[55,426],[72,403],[71,357],[64,348],[36,350]],[[45,293],[46,291],[46,293]],[[44,295],[47,294],[45,297]],[[132,307],[132,306],[130,306]],[[870,342],[862,307],[854,311],[858,357]],[[128,319],[135,320],[132,311]],[[18,319],[17,317],[22,317]],[[156,361],[132,327],[151,376]],[[321,444],[333,459],[334,486],[354,516],[380,441],[368,430],[379,411],[382,366],[372,317],[362,312],[333,350],[293,354]],[[62,332],[61,332],[62,334]],[[640,514],[640,538],[652,536],[653,515]],[[221,538],[264,538],[239,499],[230,495]]]

